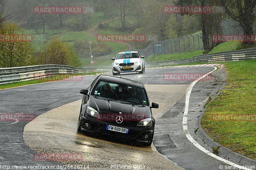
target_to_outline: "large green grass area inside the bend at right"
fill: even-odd
[[[216,142],[256,159],[256,60],[225,63],[227,84],[207,107],[202,127]],[[212,115],[254,115],[254,121],[216,121]]]

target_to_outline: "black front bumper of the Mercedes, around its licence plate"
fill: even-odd
[[[84,124],[88,123],[90,126],[89,128],[85,127]],[[113,125],[117,127],[122,127],[122,128],[127,128],[129,129],[128,133],[121,133],[121,132],[115,132],[111,130],[107,130],[107,125]],[[90,116],[85,114],[84,116],[81,117],[81,126],[83,131],[91,132],[91,133],[102,133],[110,136],[115,136],[115,137],[122,137],[122,138],[129,138],[132,140],[136,140],[138,142],[143,142],[143,143],[149,143],[153,132],[154,132],[154,124],[152,123],[151,126],[148,127],[142,127],[142,126],[136,126],[136,127],[131,127],[131,126],[121,126],[121,125],[116,125],[113,123],[109,122],[104,122],[104,121],[98,121],[96,120],[95,117]],[[144,136],[148,135],[148,140],[144,139]]]

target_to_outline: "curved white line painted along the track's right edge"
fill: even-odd
[[[215,71],[217,70],[217,67],[214,67],[214,70]],[[190,94],[191,94],[191,91],[192,91],[192,88],[194,87],[194,85],[199,81],[201,80],[202,78],[204,78],[205,76],[207,76],[208,74],[212,73],[213,71],[205,74],[204,76],[198,78],[197,80],[193,81],[189,86],[188,86],[188,89],[187,89],[187,92],[186,92],[186,103],[185,103],[185,109],[184,109],[184,114],[183,114],[183,121],[182,121],[182,126],[183,126],[183,130],[185,132],[185,135],[186,137],[188,138],[188,140],[194,144],[198,149],[200,149],[201,151],[203,151],[204,153],[206,153],[207,155],[215,158],[215,159],[218,159],[222,162],[225,162],[231,166],[235,166],[239,169],[244,169],[244,170],[250,170],[246,167],[243,167],[243,166],[240,166],[240,165],[237,165],[231,161],[228,161],[226,159],[223,159],[215,154],[213,154],[212,152],[206,150],[203,146],[201,146],[200,144],[198,144],[195,139],[193,139],[193,137],[190,135],[190,133],[188,132],[188,126],[187,126],[187,116],[188,116],[188,107],[189,107],[189,97],[190,97]]]

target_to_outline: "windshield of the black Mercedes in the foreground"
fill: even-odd
[[[148,106],[144,88],[132,85],[100,81],[92,90],[91,95]]]

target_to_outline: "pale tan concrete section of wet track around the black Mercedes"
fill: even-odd
[[[188,85],[145,86],[150,102],[159,103],[159,109],[152,109],[156,120],[184,95],[188,87]],[[125,139],[120,140],[100,134],[85,136],[78,133],[76,128],[80,106],[81,100],[78,100],[37,116],[24,128],[26,144],[39,153],[60,153],[63,150],[82,153],[84,155],[82,162],[90,163],[94,167],[110,168],[113,164],[132,164],[146,165],[148,169],[180,169],[159,154],[153,144],[139,147]]]

